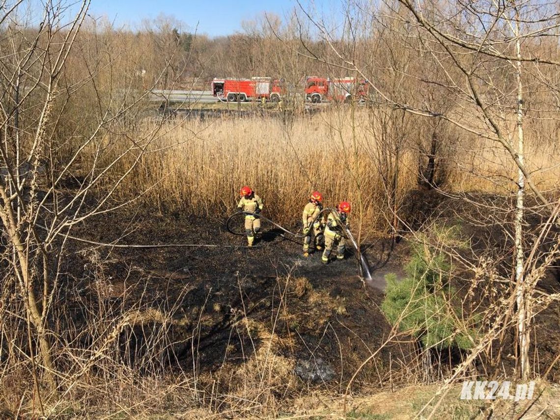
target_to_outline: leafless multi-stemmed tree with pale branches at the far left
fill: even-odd
[[[118,66],[123,57],[110,34],[84,28],[88,0],[73,16],[66,4],[48,1],[35,26],[26,23],[24,6],[16,2],[0,15],[3,277],[4,286],[15,287],[18,296],[8,301],[8,310],[27,320],[29,354],[39,367],[34,372],[53,391],[59,372],[51,320],[59,305],[60,267],[71,258],[68,235],[92,216],[127,204],[116,201],[116,194],[151,151],[162,121],[127,134],[124,116],[138,112],[147,97],[138,82],[142,64],[137,60],[123,74]],[[84,39],[88,48],[81,48]],[[169,76],[175,51],[168,53],[155,84]],[[37,375],[35,386],[39,393]]]

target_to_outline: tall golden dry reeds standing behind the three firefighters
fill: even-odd
[[[267,214],[287,222],[298,218],[317,189],[327,206],[349,200],[361,209],[364,225],[386,230],[395,161],[399,208],[410,190],[422,188],[419,167],[426,166],[424,143],[429,146],[433,133],[423,120],[412,120],[397,155],[390,130],[380,127],[375,113],[380,111],[333,107],[288,120],[281,113],[179,117],[162,128],[151,145],[155,152],[142,157],[122,193],[134,197],[147,191],[143,197],[161,212],[222,217],[234,211],[240,187],[250,185],[264,198]],[[515,192],[516,167],[500,144],[455,127],[442,130],[441,136],[436,132],[441,144],[435,154],[442,190]],[[536,185],[548,192],[558,186],[560,156],[555,143],[536,135],[540,132],[528,129],[526,162]]]

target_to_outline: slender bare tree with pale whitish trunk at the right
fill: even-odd
[[[554,10],[546,4],[532,2],[509,2],[507,4],[488,3],[485,12],[478,8],[459,6],[456,10],[442,7],[443,13],[433,7],[418,7],[404,0],[418,24],[418,36],[424,45],[433,43],[430,52],[436,63],[446,69],[460,70],[459,77],[447,77],[446,83],[457,92],[458,103],[469,107],[482,124],[466,122],[461,114],[437,113],[444,115],[459,127],[482,134],[501,144],[510,154],[517,166],[516,215],[514,222],[515,237],[515,295],[517,302],[517,330],[520,348],[520,374],[527,379],[529,368],[530,302],[533,299],[535,284],[525,283],[525,253],[523,223],[525,217],[525,185],[545,206],[549,206],[544,194],[535,185],[528,169],[524,153],[524,95],[525,83],[535,88],[532,82],[525,82],[522,74],[523,62],[535,61],[522,55],[521,43],[530,42],[535,36],[552,35],[558,24]],[[469,17],[465,24],[460,20],[447,19],[447,13],[460,11]],[[444,20],[446,22],[444,22]],[[488,24],[480,24],[487,21]],[[524,26],[522,29],[521,25]],[[465,31],[468,36],[462,35]],[[465,55],[462,55],[465,53]],[[441,56],[442,58],[439,58]],[[446,63],[445,60],[450,62]],[[538,64],[537,64],[538,65]],[[554,65],[547,63],[544,65]],[[501,73],[501,74],[500,74]],[[449,74],[449,73],[448,73]],[[482,85],[482,86],[481,86]],[[510,93],[511,92],[511,93]],[[515,94],[513,93],[515,92]],[[459,102],[462,99],[461,102]],[[515,106],[512,106],[512,102]],[[433,113],[434,111],[431,110]],[[515,114],[515,129],[511,128],[509,115]]]

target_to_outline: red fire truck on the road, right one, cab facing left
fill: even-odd
[[[354,77],[328,79],[310,76],[305,82],[305,99],[315,103],[328,101],[349,102],[354,97],[365,99],[368,91],[367,80],[358,81]]]

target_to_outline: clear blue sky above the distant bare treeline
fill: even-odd
[[[117,27],[134,28],[144,18],[163,13],[188,25],[183,30],[194,31],[198,24],[199,34],[213,37],[242,31],[241,21],[262,12],[283,17],[296,5],[296,0],[92,0],[90,15],[106,16]]]

